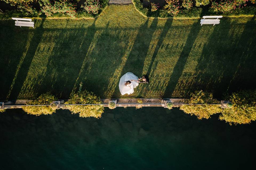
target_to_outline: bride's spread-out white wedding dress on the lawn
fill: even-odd
[[[125,75],[123,75],[119,81],[119,90],[121,92],[122,95],[125,94],[132,94],[134,92],[134,88],[137,87],[139,85],[138,82],[136,81],[131,81],[131,84],[129,84],[129,86],[125,86],[125,81],[131,81],[131,80],[138,80],[138,77],[135,76],[133,73],[128,72]]]

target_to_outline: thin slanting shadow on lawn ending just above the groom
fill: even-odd
[[[163,31],[162,31],[161,35],[159,36],[157,46],[155,47],[155,50],[154,50],[154,53],[153,53],[153,56],[152,56],[152,59],[151,59],[150,65],[149,65],[149,69],[147,70],[147,75],[149,75],[149,73],[150,73],[151,67],[155,60],[155,57],[157,56],[157,53],[158,53],[159,49],[161,48],[163,40],[165,39],[169,29],[171,28],[172,22],[173,22],[173,18],[168,18],[166,20],[165,26],[163,27]]]

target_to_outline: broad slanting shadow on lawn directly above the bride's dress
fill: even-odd
[[[152,36],[157,29],[157,22],[158,19],[154,18],[150,27],[148,27],[148,18],[146,22],[139,28],[139,32],[136,36],[130,55],[123,69],[123,74],[125,74],[126,72],[132,72],[133,70],[136,70],[134,72],[135,75],[142,74],[147,51],[149,49]]]

